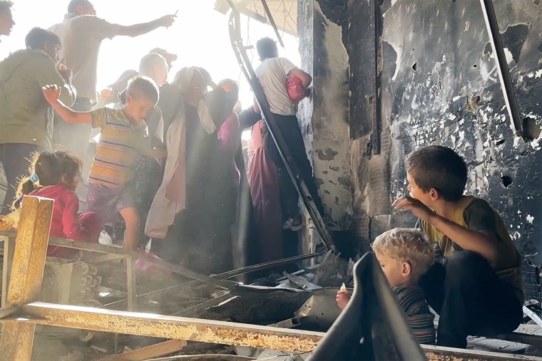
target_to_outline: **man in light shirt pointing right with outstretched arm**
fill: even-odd
[[[86,112],[96,104],[98,52],[103,40],[115,36],[140,36],[156,28],[167,28],[174,21],[175,15],[165,15],[148,23],[122,26],[98,18],[91,1],[71,0],[64,21],[51,26],[49,31],[61,38],[60,62],[73,70],[73,85],[77,90],[73,110]],[[91,133],[90,125],[55,120],[54,127],[53,142],[83,157]]]

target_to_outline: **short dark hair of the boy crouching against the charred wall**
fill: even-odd
[[[406,159],[406,172],[414,177],[416,185],[424,192],[436,189],[448,202],[461,199],[467,171],[464,159],[454,150],[441,145],[415,150]]]

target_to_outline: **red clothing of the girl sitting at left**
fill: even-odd
[[[44,197],[54,200],[53,216],[49,236],[63,239],[73,239],[78,242],[98,243],[101,233],[98,215],[87,212],[78,216],[79,198],[72,190],[63,184],[48,186],[31,192],[31,196]],[[70,258],[78,253],[77,250],[49,246],[48,256]]]

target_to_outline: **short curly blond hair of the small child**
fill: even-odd
[[[371,247],[399,262],[409,262],[415,277],[426,273],[435,258],[433,245],[419,229],[392,229],[378,236]]]

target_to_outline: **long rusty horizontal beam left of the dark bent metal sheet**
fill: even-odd
[[[286,352],[310,352],[324,333],[285,330],[259,325],[103,310],[51,303],[31,303],[22,312],[36,325],[99,332],[193,340]]]

